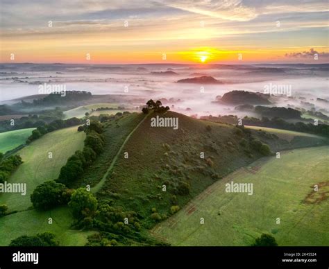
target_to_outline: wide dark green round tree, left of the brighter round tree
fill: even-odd
[[[47,210],[69,202],[67,187],[55,181],[47,181],[35,188],[31,202],[36,209]]]

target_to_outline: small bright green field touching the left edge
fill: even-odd
[[[32,134],[35,128],[20,129],[0,133],[0,153],[6,153],[17,146],[25,144],[26,139]]]

